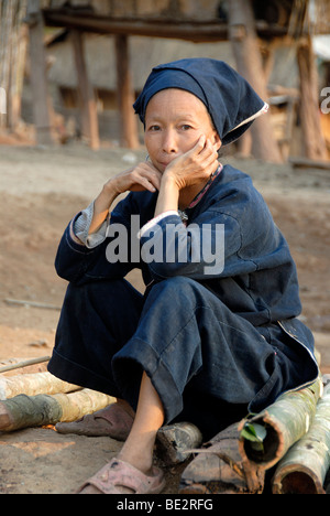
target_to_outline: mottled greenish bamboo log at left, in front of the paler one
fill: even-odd
[[[75,421],[116,401],[116,398],[90,389],[70,394],[19,395],[0,402],[0,431]]]

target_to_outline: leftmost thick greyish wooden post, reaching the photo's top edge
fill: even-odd
[[[44,49],[44,22],[40,9],[40,0],[29,0],[26,21],[30,36],[30,76],[36,141],[38,144],[52,144]]]

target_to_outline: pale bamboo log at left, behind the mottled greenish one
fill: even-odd
[[[0,400],[13,398],[20,394],[35,396],[38,394],[72,393],[80,387],[63,381],[51,373],[35,373],[0,377]]]

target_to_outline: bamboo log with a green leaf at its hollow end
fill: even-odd
[[[321,393],[318,378],[310,387],[284,393],[261,413],[242,420],[239,447],[243,460],[265,470],[275,465],[309,430]]]

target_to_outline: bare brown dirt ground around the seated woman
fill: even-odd
[[[66,288],[53,266],[62,233],[111,174],[140,159],[143,150],[0,146],[0,366],[9,358],[51,355]],[[315,333],[322,372],[330,373],[330,172],[232,158],[222,162],[252,175],[284,232],[298,268],[301,319]],[[141,287],[139,275],[131,279]],[[121,444],[42,428],[0,433],[0,493],[61,494],[73,493]],[[177,472],[167,475],[166,493],[175,493]]]

